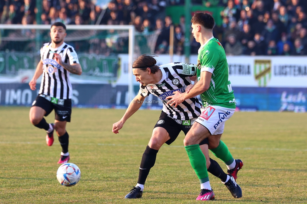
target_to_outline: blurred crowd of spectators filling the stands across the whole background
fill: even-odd
[[[227,55],[307,55],[307,0],[192,0],[193,4],[222,7],[222,24],[214,36]],[[174,26],[174,53],[183,54],[185,18],[173,24],[165,7],[184,0],[111,0],[106,9],[90,0],[42,0],[41,24],[132,24],[137,32],[157,37],[154,52],[169,52]],[[1,24],[37,24],[36,0],[0,0]],[[178,19],[176,19],[177,21]],[[109,47],[109,42],[101,43]],[[199,43],[191,35],[191,52]],[[110,51],[109,51],[110,52]]]

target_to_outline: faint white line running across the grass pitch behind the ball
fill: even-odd
[[[1,142],[0,144],[45,144],[45,142]],[[98,145],[98,146],[126,146],[126,147],[146,147],[146,145],[132,145],[132,144],[103,144],[103,143],[70,143],[70,145]],[[184,148],[184,146],[180,145],[164,145],[162,148]],[[236,147],[228,147],[229,149],[238,149],[238,150],[269,150],[269,151],[292,151],[292,152],[307,152],[307,149],[285,149],[285,148],[236,148]]]

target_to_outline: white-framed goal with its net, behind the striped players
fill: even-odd
[[[28,73],[23,82],[30,81],[40,48],[51,41],[50,28],[0,24],[0,76]],[[73,83],[116,83],[124,77],[131,101],[132,62],[141,54],[154,52],[158,34],[138,33],[132,25],[67,25],[66,32],[64,41],[75,48],[83,71],[81,76],[73,76]]]

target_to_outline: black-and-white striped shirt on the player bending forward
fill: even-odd
[[[195,64],[185,64],[181,62],[169,63],[160,66],[162,79],[156,84],[143,86],[140,84],[139,93],[141,96],[153,94],[163,101],[163,109],[167,115],[177,120],[190,120],[197,118],[200,114],[201,102],[196,98],[184,100],[177,107],[166,104],[167,96],[173,95],[174,91],[185,92],[188,85],[191,84],[189,77],[196,74],[197,66]]]

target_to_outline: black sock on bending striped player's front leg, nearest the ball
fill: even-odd
[[[155,150],[150,148],[148,145],[143,153],[141,165],[140,165],[140,172],[139,172],[139,179],[137,183],[145,184],[147,176],[149,174],[150,169],[153,167],[154,163],[156,162],[157,153],[159,150]]]

